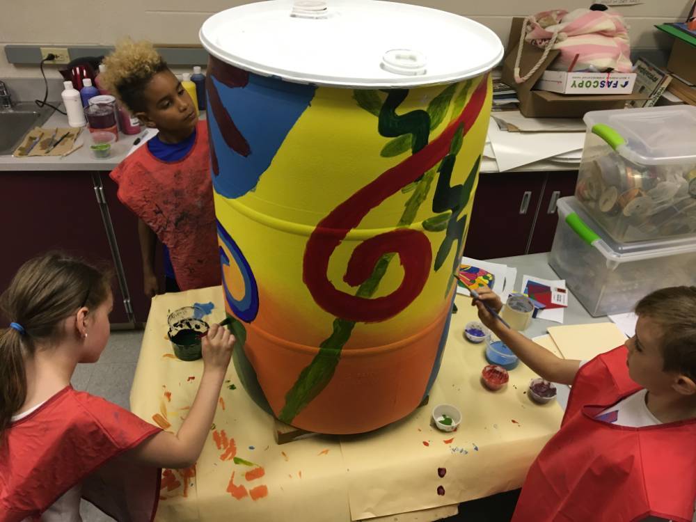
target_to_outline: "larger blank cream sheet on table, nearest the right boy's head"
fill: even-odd
[[[590,361],[626,342],[626,335],[614,323],[550,326],[548,333],[567,359]]]

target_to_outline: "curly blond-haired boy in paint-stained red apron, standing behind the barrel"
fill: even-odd
[[[193,100],[149,42],[125,40],[104,64],[102,83],[157,129],[111,172],[118,198],[139,217],[145,294],[159,291],[157,238],[165,247],[166,291],[219,285],[207,127]]]

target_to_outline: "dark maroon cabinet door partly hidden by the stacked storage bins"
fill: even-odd
[[[546,187],[541,196],[537,221],[532,231],[528,254],[548,252],[553,244],[553,236],[558,224],[556,200],[575,193],[578,171],[553,171],[548,173]]]

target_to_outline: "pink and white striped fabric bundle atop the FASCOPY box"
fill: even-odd
[[[594,66],[598,70],[631,72],[631,45],[624,17],[615,10],[562,9],[537,13],[527,26],[525,40],[544,48],[557,33],[553,49],[560,56],[550,69],[568,70],[576,54],[574,70]]]

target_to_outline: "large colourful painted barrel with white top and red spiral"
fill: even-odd
[[[235,365],[278,419],[351,434],[440,366],[503,47],[464,17],[274,0],[200,31]]]

